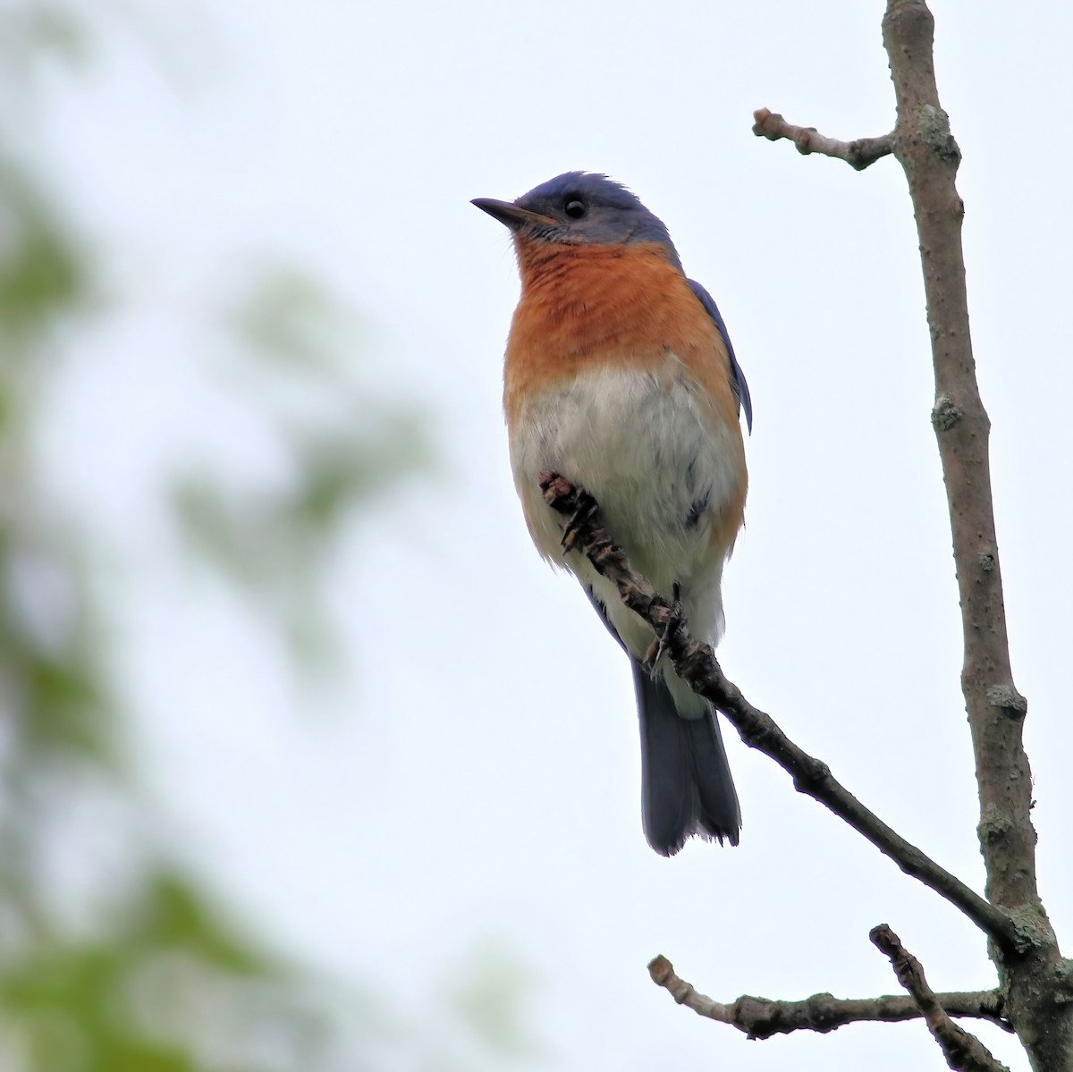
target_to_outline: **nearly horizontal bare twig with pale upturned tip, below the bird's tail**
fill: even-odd
[[[652,982],[662,986],[680,1005],[692,1009],[699,1016],[730,1024],[750,1039],[770,1039],[792,1031],[834,1031],[847,1024],[862,1022],[898,1023],[918,1019],[924,1013],[913,998],[884,995],[879,998],[836,998],[831,994],[813,994],[802,1001],[771,1001],[743,995],[724,1005],[675,974],[674,965],[663,956],[648,965]],[[1002,1019],[1002,998],[998,990],[975,990],[937,994],[936,1000],[951,1016],[974,1016],[989,1019],[1006,1031],[1012,1030]]]

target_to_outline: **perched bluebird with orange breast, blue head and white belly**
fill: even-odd
[[[664,856],[693,835],[737,845],[741,812],[716,713],[614,584],[580,549],[563,553],[561,518],[540,487],[555,472],[587,490],[633,568],[717,644],[723,563],[748,490],[743,411],[752,431],[723,318],[686,277],[662,221],[606,175],[567,172],[515,201],[472,204],[510,230],[521,280],[503,409],[529,533],[580,582],[632,663],[645,837]]]

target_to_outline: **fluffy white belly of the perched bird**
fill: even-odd
[[[714,432],[693,393],[680,375],[587,372],[531,399],[511,428],[514,481],[538,548],[593,589],[635,658],[651,630],[588,559],[563,557],[562,518],[544,502],[539,478],[553,470],[590,491],[633,567],[668,599],[678,584],[691,631],[715,644],[726,548],[714,543],[711,523],[738,494],[739,455],[736,429]]]

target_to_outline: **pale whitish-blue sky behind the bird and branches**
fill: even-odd
[[[628,665],[541,563],[514,497],[500,373],[516,274],[469,205],[586,168],[666,222],[755,410],[725,672],[982,889],[905,180],[890,159],[856,174],[750,130],[767,106],[832,136],[887,131],[882,6],[173,4],[141,30],[114,19],[86,77],[55,79],[58,181],[129,303],[72,350],[56,480],[133,563],[123,664],[176,839],[281,943],[418,1015],[474,942],[503,940],[536,979],[533,1067],[943,1067],[920,1022],[747,1042],[653,986],[657,953],[726,1001],[887,994],[867,937],[885,922],[936,989],[994,980],[956,910],[729,728],[740,847],[668,861],[645,845]],[[1005,8],[932,6],[1041,887],[1069,953],[1073,150],[1052,109],[1073,14],[1026,0],[1011,26]],[[238,601],[160,564],[162,473],[264,464],[199,320],[262,258],[319,274],[365,328],[355,361],[377,392],[433,414],[438,471],[355,525],[335,569],[352,680],[327,714]]]

